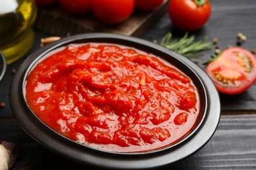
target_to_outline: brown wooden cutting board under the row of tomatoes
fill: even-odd
[[[41,31],[60,37],[91,32],[140,37],[167,12],[168,4],[169,0],[164,0],[158,9],[153,11],[135,9],[128,20],[117,25],[108,25],[98,21],[92,12],[83,15],[70,14],[56,4],[49,8],[39,8],[34,25]]]

